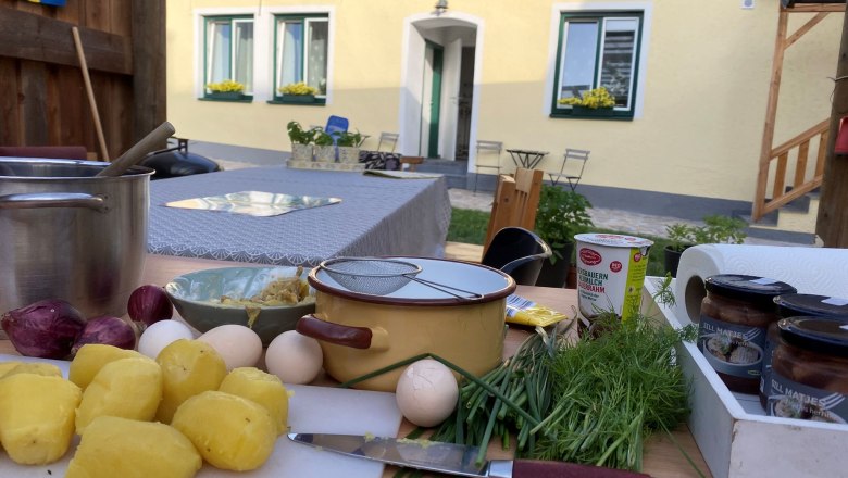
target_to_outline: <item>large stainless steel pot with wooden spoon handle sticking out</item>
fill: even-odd
[[[152,169],[93,177],[108,163],[0,159],[0,313],[64,299],[122,316],[139,286]]]

